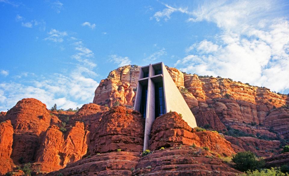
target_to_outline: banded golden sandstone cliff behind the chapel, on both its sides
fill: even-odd
[[[129,65],[110,72],[108,78],[102,80],[95,90],[93,102],[111,107],[118,101],[132,107],[139,69],[140,67]],[[266,131],[273,127],[274,131],[285,137],[289,134],[285,129],[288,127],[289,114],[286,108],[281,108],[289,106],[287,95],[232,79],[186,74],[171,67],[166,69],[193,112],[198,126],[210,125],[212,129],[222,131],[226,130],[225,125],[231,123],[253,123],[267,127]],[[278,120],[273,120],[278,118],[273,117],[273,114],[278,116],[275,108],[281,108],[278,111],[285,122],[282,125],[278,125]],[[272,114],[269,116],[270,113]]]

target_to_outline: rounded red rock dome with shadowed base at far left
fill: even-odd
[[[50,126],[51,116],[46,105],[34,98],[24,98],[7,112],[6,119],[11,120],[14,128],[11,158],[16,163],[20,157],[24,162],[33,161],[39,135]]]

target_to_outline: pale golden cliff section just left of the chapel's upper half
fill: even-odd
[[[132,107],[139,78],[138,66],[123,66],[111,71],[95,90],[93,103],[112,107],[114,103]]]

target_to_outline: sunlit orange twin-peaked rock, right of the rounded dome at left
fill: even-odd
[[[63,134],[59,127],[52,125],[45,133],[33,168],[50,172],[78,161],[86,154],[87,134],[88,131],[84,130],[82,122],[76,122],[66,134]]]

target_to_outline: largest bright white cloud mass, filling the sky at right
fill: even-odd
[[[175,66],[188,73],[230,77],[237,81],[289,91],[289,21],[273,1],[204,3],[188,22],[213,22],[221,29],[185,51]],[[192,17],[191,17],[192,16]]]

